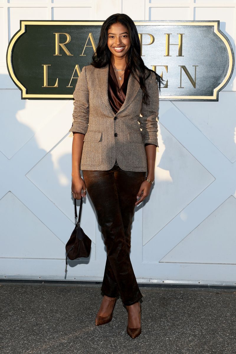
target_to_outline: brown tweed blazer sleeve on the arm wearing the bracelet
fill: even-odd
[[[151,73],[151,79],[149,81],[147,91],[150,97],[150,104],[142,104],[140,113],[142,117],[139,117],[140,128],[142,129],[142,135],[145,135],[144,144],[154,144],[157,147],[157,119],[159,114],[159,86],[156,81],[156,76]]]

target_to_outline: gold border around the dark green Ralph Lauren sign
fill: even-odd
[[[19,80],[17,79],[15,73],[13,72],[13,68],[12,68],[12,63],[11,63],[11,53],[12,53],[12,48],[15,44],[15,42],[17,41],[17,39],[23,34],[25,33],[25,25],[102,25],[103,22],[93,22],[93,21],[22,21],[21,22],[21,29],[19,30],[19,32],[17,32],[11,39],[11,42],[8,46],[7,49],[7,65],[8,65],[8,70],[9,73],[11,75],[12,80],[15,82],[15,84],[21,88],[22,90],[22,98],[73,98],[73,95],[38,95],[38,94],[28,94],[26,93],[26,87],[24,87],[21,82],[19,82]],[[232,71],[232,64],[233,64],[233,57],[232,57],[232,52],[229,46],[228,41],[226,40],[226,38],[218,31],[218,26],[217,26],[217,22],[134,22],[134,24],[136,26],[150,26],[150,25],[159,25],[159,26],[164,26],[164,25],[182,25],[182,26],[213,26],[214,27],[214,33],[216,35],[218,35],[218,37],[224,42],[227,51],[228,51],[228,55],[229,55],[229,68],[228,68],[228,72],[224,78],[224,80],[214,89],[213,92],[213,96],[160,96],[160,98],[166,98],[166,99],[216,99],[217,98],[217,92],[220,90],[220,88],[222,86],[224,86],[225,82],[227,82],[227,80],[230,77],[231,71]]]

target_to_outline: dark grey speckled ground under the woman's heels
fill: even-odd
[[[95,326],[100,284],[0,283],[2,354],[236,354],[236,290],[140,287],[142,333],[127,311]]]

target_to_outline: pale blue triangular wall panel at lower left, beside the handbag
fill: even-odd
[[[65,258],[63,242],[11,192],[0,200],[0,215],[0,257]]]

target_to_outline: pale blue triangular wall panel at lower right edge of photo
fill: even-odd
[[[236,264],[235,215],[231,195],[159,262]]]

